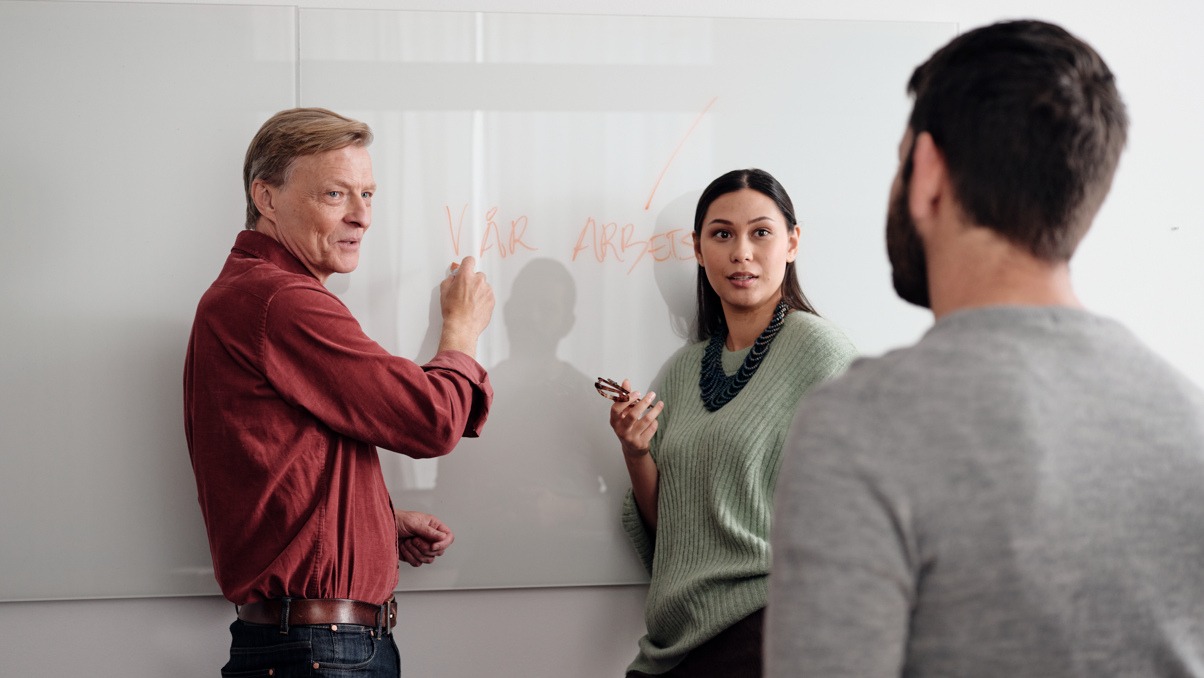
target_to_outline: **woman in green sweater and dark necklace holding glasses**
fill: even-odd
[[[712,182],[694,223],[700,341],[666,362],[657,393],[610,408],[631,474],[624,526],[651,574],[628,678],[761,674],[783,440],[803,394],[855,356],[798,285],[798,238],[767,172]]]

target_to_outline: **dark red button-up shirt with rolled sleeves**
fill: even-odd
[[[184,431],[222,592],[384,602],[397,531],[377,447],[414,458],[476,436],[485,370],[390,355],[270,236],[242,231],[201,297]]]

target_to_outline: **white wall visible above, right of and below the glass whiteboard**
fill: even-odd
[[[190,0],[197,2],[199,0]],[[334,2],[264,5],[331,6]],[[341,6],[350,5],[348,2]],[[1075,265],[1088,306],[1133,326],[1196,381],[1204,346],[1204,8],[1173,0],[364,0],[355,6],[615,14],[1063,24],[1116,72],[1133,118],[1112,195]],[[904,83],[899,83],[903,88]],[[850,88],[855,88],[850,83]],[[10,106],[19,102],[6,102]],[[902,130],[903,120],[899,120]],[[822,130],[818,130],[821,132]],[[893,153],[884,148],[883,153]],[[6,290],[7,294],[7,290]],[[36,515],[36,514],[35,514]],[[36,519],[36,518],[31,518]],[[19,548],[5,543],[4,548]],[[85,554],[81,554],[84,556]],[[0,573],[0,577],[4,574]],[[642,632],[639,586],[406,594],[407,676],[620,674]],[[228,603],[214,597],[0,603],[5,676],[214,676]]]

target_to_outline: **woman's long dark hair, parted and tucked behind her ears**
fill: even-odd
[[[783,217],[786,218],[789,228],[798,225],[798,219],[795,218],[795,204],[786,195],[786,189],[769,172],[756,169],[732,170],[710,182],[710,185],[698,196],[698,206],[694,211],[694,236],[696,240],[702,237],[702,222],[707,218],[707,210],[710,208],[710,204],[719,199],[720,195],[745,188],[750,188],[773,200],[778,210],[781,211]],[[811,302],[807,301],[807,296],[803,295],[803,288],[798,284],[798,275],[795,272],[793,261],[786,264],[786,275],[781,279],[781,299],[793,311],[803,311],[813,316],[819,316],[815,308],[811,307]],[[708,340],[715,335],[726,332],[727,320],[724,318],[724,306],[719,301],[719,293],[715,291],[715,288],[710,287],[710,281],[707,279],[707,271],[702,266],[698,266],[697,300],[697,338]]]

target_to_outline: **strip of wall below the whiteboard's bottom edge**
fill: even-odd
[[[621,676],[643,602],[644,586],[408,592],[402,676]],[[217,596],[0,603],[0,676],[216,677],[232,620]]]

